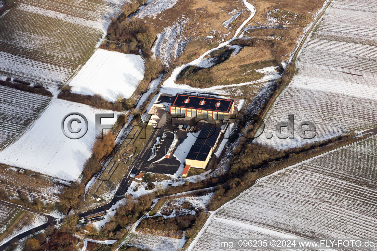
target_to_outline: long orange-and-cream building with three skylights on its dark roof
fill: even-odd
[[[177,94],[170,106],[170,114],[203,119],[229,120],[234,113],[233,99],[188,96]]]

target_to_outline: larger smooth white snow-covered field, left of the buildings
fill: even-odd
[[[87,118],[89,129],[80,139],[67,138],[61,130],[63,117],[71,112],[81,113]],[[85,160],[92,155],[96,136],[95,113],[112,113],[112,111],[54,99],[28,131],[0,152],[0,162],[75,181],[83,170]],[[71,117],[77,116],[70,116],[68,119]],[[113,124],[115,120],[116,114],[113,119],[102,119],[101,123]],[[64,128],[67,130],[66,123]],[[78,124],[72,123],[72,129],[77,128]]]

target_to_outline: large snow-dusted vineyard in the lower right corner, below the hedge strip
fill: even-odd
[[[376,150],[372,137],[260,179],[189,250],[221,250],[221,238],[377,239]]]

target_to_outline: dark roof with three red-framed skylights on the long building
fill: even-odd
[[[192,108],[207,111],[219,111],[229,113],[234,103],[233,99],[217,99],[211,97],[199,97],[177,94],[173,98],[172,106]],[[204,102],[203,102],[204,101]]]

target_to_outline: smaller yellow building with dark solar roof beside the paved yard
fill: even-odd
[[[186,166],[205,169],[221,138],[221,127],[203,126],[186,157]]]

